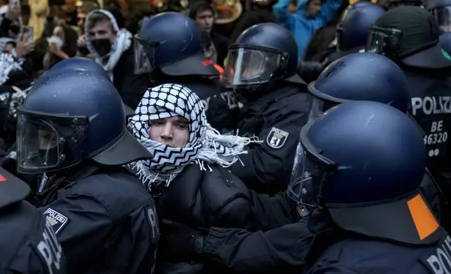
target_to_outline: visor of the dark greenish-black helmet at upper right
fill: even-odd
[[[402,32],[399,29],[371,27],[366,41],[365,52],[387,57],[396,57]]]

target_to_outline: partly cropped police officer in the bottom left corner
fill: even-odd
[[[50,222],[24,201],[28,185],[0,168],[0,273],[66,273]]]

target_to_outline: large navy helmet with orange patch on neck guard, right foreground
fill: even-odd
[[[342,229],[425,243],[408,206],[429,211],[419,194],[425,167],[422,134],[405,113],[352,101],[303,127],[288,192],[300,208],[326,208]]]

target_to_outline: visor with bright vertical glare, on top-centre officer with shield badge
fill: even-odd
[[[284,72],[288,58],[282,52],[251,46],[229,48],[225,64],[225,87],[256,85],[277,79]]]

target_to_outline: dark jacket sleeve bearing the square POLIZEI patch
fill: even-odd
[[[50,218],[68,264],[86,256],[86,250],[92,247],[102,248],[104,239],[113,231],[109,212],[88,194],[57,199],[39,211]]]

